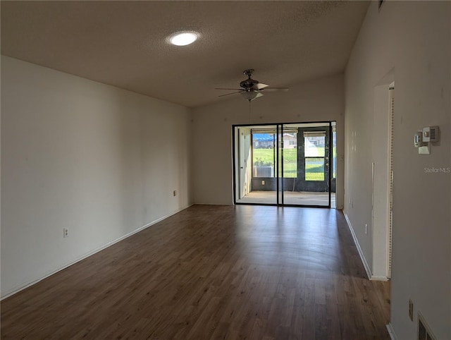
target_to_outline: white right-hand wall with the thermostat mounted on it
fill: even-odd
[[[437,339],[451,339],[451,174],[425,171],[451,167],[450,7],[446,1],[385,1],[379,12],[372,2],[345,72],[345,213],[369,264],[384,246],[364,231],[371,222],[371,163],[386,147],[376,142],[385,113],[374,98],[392,70],[395,80],[390,323],[397,339],[416,339],[418,311]],[[434,125],[440,145],[419,155],[414,132]]]

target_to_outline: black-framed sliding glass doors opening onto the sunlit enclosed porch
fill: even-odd
[[[233,126],[234,203],[335,208],[335,125]]]

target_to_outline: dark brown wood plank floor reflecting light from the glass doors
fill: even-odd
[[[390,339],[341,212],[196,205],[1,302],[2,339]]]

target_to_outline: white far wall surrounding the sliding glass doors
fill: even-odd
[[[219,95],[219,94],[218,94]],[[254,123],[337,121],[337,207],[342,208],[344,150],[344,87],[342,75],[268,92],[251,102],[236,95],[193,110],[194,202],[233,204],[232,126]]]

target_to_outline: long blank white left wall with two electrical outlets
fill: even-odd
[[[1,295],[190,205],[191,125],[185,107],[1,56]]]

